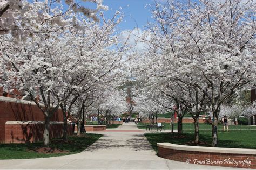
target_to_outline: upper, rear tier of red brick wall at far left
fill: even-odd
[[[43,112],[35,104],[23,104],[10,101],[9,97],[2,97],[0,101],[0,143],[5,141],[6,121],[44,121]],[[62,111],[59,109],[51,121],[63,121]]]

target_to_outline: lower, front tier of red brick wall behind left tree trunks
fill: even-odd
[[[63,124],[50,125],[50,138],[60,138],[63,135]],[[6,124],[5,143],[28,143],[42,141],[44,124]],[[68,124],[68,134],[71,135],[72,124]]]

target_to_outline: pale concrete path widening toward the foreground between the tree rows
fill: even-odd
[[[97,133],[104,136],[82,153],[52,158],[0,160],[0,169],[233,169],[160,158],[144,137],[145,130],[139,130],[134,122]]]

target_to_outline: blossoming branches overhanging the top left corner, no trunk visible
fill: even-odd
[[[97,12],[100,9],[107,9],[102,5],[102,0],[86,0],[97,4],[96,9],[88,9],[76,3],[75,0],[65,1],[68,5],[67,10],[62,9],[60,0],[57,1],[0,1],[0,34],[11,33],[12,36],[22,39],[32,37],[34,34],[42,33],[39,29],[45,22],[54,22],[60,26],[68,24],[62,18],[67,12],[82,13],[88,18],[98,21]],[[42,8],[42,11],[36,10]],[[51,10],[55,9],[55,12]]]

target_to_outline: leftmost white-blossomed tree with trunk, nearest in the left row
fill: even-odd
[[[35,5],[35,12],[46,11],[48,6]],[[56,9],[49,9],[48,14],[57,14]],[[71,19],[66,13],[67,22]],[[64,18],[62,18],[64,20]],[[49,145],[50,119],[62,101],[52,97],[52,89],[66,88],[60,77],[71,65],[67,58],[71,55],[66,29],[73,27],[70,23],[65,27],[47,20],[42,25],[33,25],[42,32],[37,36],[23,39],[9,34],[1,37],[2,51],[2,86],[9,87],[9,92],[18,89],[25,96],[30,96],[45,116],[44,144]],[[61,72],[60,72],[61,71]],[[62,93],[62,90],[59,90]],[[42,101],[43,105],[41,104]]]

